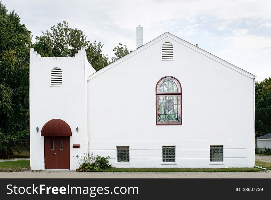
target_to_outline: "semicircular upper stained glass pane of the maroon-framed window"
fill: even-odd
[[[171,77],[166,77],[159,81],[157,85],[157,93],[172,93],[172,92],[181,92],[180,90],[180,84],[177,80]]]

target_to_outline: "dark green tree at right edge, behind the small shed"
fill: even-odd
[[[255,81],[255,137],[271,133],[271,76]]]

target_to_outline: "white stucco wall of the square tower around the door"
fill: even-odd
[[[30,49],[31,169],[44,169],[44,137],[41,130],[51,119],[62,119],[71,127],[71,170],[78,167],[73,156],[87,152],[87,74],[95,70],[86,60],[83,48],[75,57],[65,58],[41,58],[34,49]],[[63,86],[50,86],[50,73],[54,67],[63,70]],[[78,133],[76,127],[79,127]],[[80,148],[73,148],[73,144],[80,144]]]

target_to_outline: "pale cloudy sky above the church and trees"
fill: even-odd
[[[271,76],[270,0],[2,0],[32,31],[63,20],[87,39],[104,43],[113,56],[119,42],[136,49],[136,27],[144,44],[166,31],[257,76]]]

